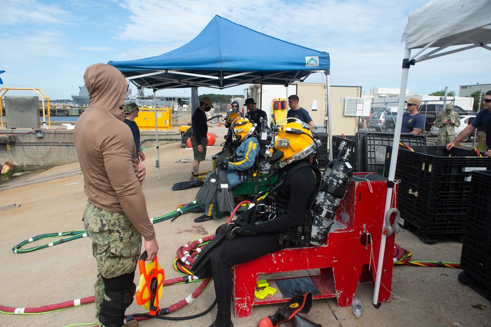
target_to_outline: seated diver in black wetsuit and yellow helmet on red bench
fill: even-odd
[[[191,267],[200,278],[213,276],[217,318],[211,327],[232,327],[233,282],[230,269],[287,246],[309,245],[307,226],[321,174],[309,160],[317,149],[308,125],[300,121],[275,127],[269,161],[278,164],[278,180],[269,195],[230,224],[218,227],[215,238]]]

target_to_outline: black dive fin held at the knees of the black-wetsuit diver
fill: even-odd
[[[201,250],[196,260],[192,264],[191,272],[193,275],[198,276],[201,279],[211,277],[211,254],[218,248],[218,246],[232,240],[233,236],[235,235],[232,233],[232,229],[234,227],[235,224],[223,224],[218,227],[217,233],[213,240],[208,242],[208,244],[203,247],[203,250]]]

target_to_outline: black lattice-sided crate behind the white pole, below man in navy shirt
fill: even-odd
[[[363,137],[363,136],[362,136]],[[385,151],[387,145],[394,143],[394,133],[366,133],[364,136],[365,171],[375,171],[384,175]],[[413,145],[426,145],[426,137],[401,134],[399,142]]]

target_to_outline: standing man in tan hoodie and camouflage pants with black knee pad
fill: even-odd
[[[74,143],[88,197],[83,224],[97,262],[96,317],[102,326],[120,327],[136,290],[141,236],[147,260],[159,245],[141,188],[145,167],[135,159],[135,142],[124,123],[126,80],[107,64],[89,66],[83,79],[90,102],[77,120]]]

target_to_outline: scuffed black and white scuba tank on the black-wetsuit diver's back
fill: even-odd
[[[346,142],[341,142],[338,159],[329,162],[324,171],[322,185],[309,212],[312,219],[311,245],[322,245],[326,240],[339,203],[348,189],[353,176],[349,155]]]

